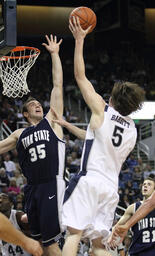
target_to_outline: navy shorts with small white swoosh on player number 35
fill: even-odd
[[[58,218],[56,180],[39,185],[26,185],[24,193],[32,237],[41,239],[44,246],[57,242],[62,235]]]

